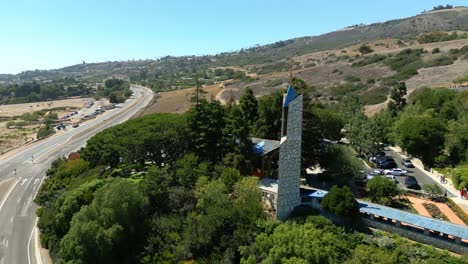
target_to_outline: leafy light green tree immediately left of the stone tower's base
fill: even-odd
[[[197,182],[195,196],[196,213],[188,220],[183,242],[183,248],[190,249],[193,255],[186,255],[185,259],[216,255],[227,249],[236,252],[240,245],[253,239],[252,231],[263,215],[255,178],[241,180],[230,194],[222,181],[202,177]]]

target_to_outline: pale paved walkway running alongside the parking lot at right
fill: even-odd
[[[391,150],[393,150],[395,153],[400,155],[401,157],[407,158],[405,155],[402,154],[402,150],[400,147],[389,147]],[[420,171],[422,171],[424,174],[426,174],[428,177],[431,177],[435,182],[439,184],[440,187],[442,187],[444,190],[447,190],[448,193],[451,194],[450,199],[452,199],[463,211],[465,211],[466,214],[468,214],[468,200],[462,199],[460,197],[460,191],[456,190],[453,187],[452,181],[446,177],[447,182],[444,184],[440,184],[440,174],[432,173],[429,171],[424,170],[424,165],[421,162],[421,160],[417,158],[412,158],[411,162],[413,163],[414,167],[418,168]]]

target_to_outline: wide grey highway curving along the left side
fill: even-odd
[[[37,250],[37,206],[33,199],[45,179],[45,171],[53,160],[79,150],[97,132],[124,122],[151,102],[151,90],[141,86],[131,89],[133,98],[118,108],[0,161],[0,184],[11,183],[3,199],[0,195],[0,264],[42,263]]]

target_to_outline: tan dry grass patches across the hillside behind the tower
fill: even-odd
[[[358,78],[361,83],[374,82],[368,85],[363,95],[372,97],[375,93],[382,93],[383,84],[381,81],[386,77],[395,74],[387,65],[382,62],[369,64],[363,67],[353,66],[363,58],[375,55],[394,56],[405,49],[423,49],[423,61],[430,61],[440,56],[448,56],[450,50],[460,49],[468,45],[468,39],[419,44],[416,41],[404,41],[398,44],[397,39],[382,39],[368,42],[367,44],[374,52],[361,56],[358,49],[361,44],[353,45],[344,49],[313,52],[292,58],[294,64],[293,74],[304,79],[309,86],[314,87],[313,93],[316,98],[323,100],[333,100],[333,87],[347,83],[352,77]],[[432,54],[434,49],[440,52]],[[258,69],[268,67],[270,64],[250,64],[236,66],[236,70],[241,70],[255,76],[251,82],[228,80],[223,84],[207,86],[209,96],[221,102],[228,101],[231,97],[235,100],[240,98],[245,87],[253,89],[257,96],[262,96],[276,89],[287,86],[289,72],[286,69],[273,70],[269,73],[258,73]],[[257,72],[256,72],[257,71]],[[421,87],[449,87],[453,80],[468,74],[468,59],[458,58],[450,65],[428,67],[418,69],[418,74],[407,79],[408,93]],[[385,93],[388,94],[388,89]],[[154,106],[149,107],[146,113],[152,112],[183,112],[189,108],[190,96],[193,88],[171,92],[159,93],[159,99]],[[366,106],[366,112],[372,115],[386,106],[387,102],[383,98],[382,102]]]

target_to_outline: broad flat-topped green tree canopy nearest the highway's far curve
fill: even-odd
[[[153,114],[129,120],[92,137],[82,157],[92,166],[145,161],[161,166],[175,162],[188,147],[185,115]]]

